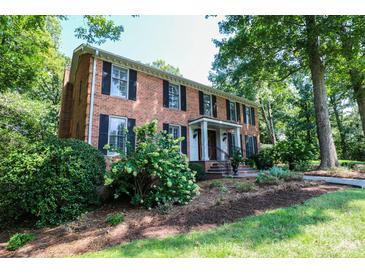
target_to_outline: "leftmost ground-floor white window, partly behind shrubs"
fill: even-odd
[[[108,144],[111,148],[119,148],[126,153],[127,118],[109,116]],[[116,156],[118,152],[108,150],[108,156]]]

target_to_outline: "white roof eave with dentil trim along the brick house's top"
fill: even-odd
[[[121,66],[125,66],[143,73],[146,73],[148,75],[152,75],[161,79],[165,79],[177,84],[181,84],[184,86],[189,86],[192,88],[195,88],[197,90],[201,90],[203,92],[209,93],[209,94],[213,94],[219,97],[223,97],[235,102],[240,102],[243,103],[245,105],[251,105],[251,106],[255,106],[257,107],[258,105],[251,101],[248,100],[244,97],[240,97],[231,93],[227,93],[224,92],[222,90],[213,88],[211,86],[207,86],[189,79],[186,79],[184,77],[180,77],[180,76],[176,76],[174,74],[165,72],[163,70],[154,68],[152,66],[143,64],[141,62],[137,62],[131,59],[128,59],[126,57],[99,49],[99,48],[95,48],[92,47],[90,45],[87,44],[81,44],[80,46],[78,46],[74,52],[73,52],[73,56],[72,56],[72,62],[71,62],[71,72],[70,72],[70,81],[73,83],[75,80],[75,74],[76,74],[76,68],[77,68],[77,63],[79,60],[79,57],[83,54],[91,54],[92,56],[96,56],[98,59],[101,60],[105,60],[114,64],[119,64]]]

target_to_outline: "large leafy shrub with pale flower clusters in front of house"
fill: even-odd
[[[180,153],[182,140],[167,132],[157,133],[157,121],[135,129],[137,146],[111,165],[106,183],[131,197],[134,205],[187,204],[198,193],[194,172]]]

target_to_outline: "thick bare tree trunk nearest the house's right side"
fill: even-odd
[[[313,82],[314,109],[321,156],[320,168],[334,168],[338,166],[338,160],[328,113],[328,99],[324,80],[325,69],[319,51],[316,16],[305,16],[305,22],[307,29],[307,55]]]

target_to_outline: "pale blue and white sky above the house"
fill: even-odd
[[[117,42],[108,41],[101,49],[143,63],[163,59],[178,67],[185,78],[210,85],[209,70],[218,49],[212,39],[222,35],[218,30],[221,17],[204,16],[112,16],[124,32]],[[83,25],[82,16],[70,16],[62,22],[61,52],[71,57],[84,41],[74,29]]]

